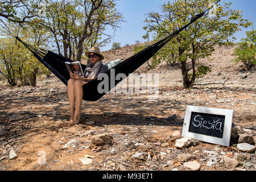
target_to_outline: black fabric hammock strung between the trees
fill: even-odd
[[[205,13],[206,11],[204,11]],[[134,56],[129,57],[125,61],[122,61],[122,63],[119,63],[115,65],[112,69],[115,69],[115,75],[118,75],[118,73],[124,73],[126,77],[129,76],[130,73],[133,73],[136,69],[141,67],[142,64],[144,64],[148,59],[150,59],[152,56],[155,55],[156,52],[159,51],[160,48],[162,48],[164,45],[166,45],[172,38],[174,38],[177,34],[179,34],[181,31],[183,31],[185,28],[187,28],[190,24],[195,22],[197,19],[201,18],[204,13],[198,14],[195,17],[191,19],[191,22],[189,22],[184,27],[180,28],[170,36],[167,36],[166,38],[160,40],[159,42],[152,44],[151,46],[143,49],[141,52],[135,54]],[[34,48],[20,40],[18,36],[15,36],[19,42],[24,44],[32,53],[33,55],[41,62],[43,63],[55,76],[57,76],[61,81],[64,82],[65,85],[68,84],[68,80],[70,78],[69,72],[67,68],[65,67],[65,62],[73,62],[73,60],[68,59],[66,57],[63,57],[61,55],[58,55],[54,52],[48,51],[46,49],[42,48]],[[84,70],[86,68],[86,65],[82,65],[82,69]],[[115,84],[110,84],[110,69],[105,72],[106,75],[108,75],[109,78],[109,89],[108,92],[113,89],[120,81],[122,80],[115,80]],[[98,80],[95,78],[94,80],[86,83],[83,86],[84,94],[83,94],[83,100],[85,101],[97,101],[102,96],[104,96],[106,93],[98,93],[98,84],[100,84],[102,80]],[[105,90],[105,88],[104,88]]]

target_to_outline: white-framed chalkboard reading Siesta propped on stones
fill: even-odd
[[[229,146],[233,110],[187,106],[182,137]]]

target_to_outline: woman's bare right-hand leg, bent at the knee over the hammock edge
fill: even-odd
[[[74,125],[77,125],[81,118],[82,96],[84,94],[82,86],[84,84],[86,84],[86,82],[82,80],[76,80],[75,82],[76,111],[75,111],[75,116],[73,121]]]

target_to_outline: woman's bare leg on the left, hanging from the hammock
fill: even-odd
[[[74,79],[68,80],[68,101],[70,105],[70,122],[73,122],[74,115],[75,115],[75,81]]]

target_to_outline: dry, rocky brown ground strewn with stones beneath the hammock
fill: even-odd
[[[106,61],[126,59],[132,50],[106,52]],[[150,70],[145,63],[137,73],[159,74],[157,99],[108,93],[83,101],[76,126],[69,125],[67,90],[55,76],[39,78],[35,88],[1,84],[0,170],[255,171],[256,72],[232,63],[232,52],[218,47],[201,60],[212,72],[190,90],[181,88],[178,67]],[[187,105],[234,110],[230,146],[181,137]]]

